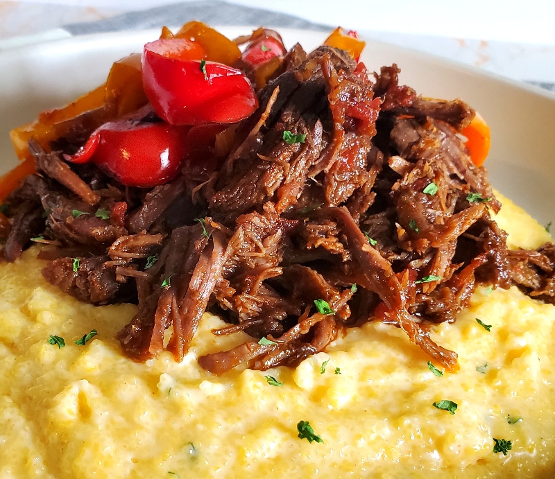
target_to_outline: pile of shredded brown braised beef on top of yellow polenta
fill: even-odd
[[[220,315],[214,334],[251,339],[199,359],[216,374],[297,365],[372,320],[454,370],[429,326],[454,321],[477,285],[554,302],[555,247],[509,252],[490,217],[500,204],[460,134],[468,105],[418,97],[395,65],[370,80],[331,47],[296,45],[283,68],[225,157],[151,190],[32,141],[39,173],[8,198],[6,259],[41,236],[51,284],[96,305],[136,302],[117,335],[136,360],[164,348],[181,360],[203,313]]]

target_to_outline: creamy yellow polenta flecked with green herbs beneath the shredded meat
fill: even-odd
[[[501,199],[497,219],[511,244],[549,240]],[[296,369],[216,377],[196,358],[242,341],[213,336],[217,317],[203,317],[182,363],[167,352],[135,363],[114,340],[135,306],[94,307],[63,295],[43,281],[35,255],[0,265],[1,478],[475,479],[555,471],[555,307],[515,288],[480,288],[456,323],[434,327],[434,339],[459,353],[456,374],[434,375],[404,333],[376,322]],[[98,336],[75,344],[92,329]],[[50,335],[66,346],[49,344]],[[458,405],[454,415],[432,406],[442,399]],[[323,442],[300,439],[299,421]],[[494,453],[493,438],[512,449]]]

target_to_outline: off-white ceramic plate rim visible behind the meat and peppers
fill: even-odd
[[[220,28],[228,37],[250,27]],[[306,50],[324,33],[282,30],[286,46]],[[100,85],[114,60],[142,51],[159,31],[73,37],[0,52],[0,172],[17,164],[8,132]],[[555,95],[477,69],[368,42],[361,58],[370,71],[397,63],[400,81],[423,96],[463,98],[488,121],[492,146],[486,166],[493,186],[540,223],[555,222]]]

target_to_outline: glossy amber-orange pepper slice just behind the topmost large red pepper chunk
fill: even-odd
[[[223,63],[232,67],[239,58],[241,51],[239,47],[225,37],[219,31],[210,28],[202,21],[189,21],[180,28],[178,33],[173,34],[169,28],[162,28],[160,38],[185,38],[200,43],[206,51],[206,60]]]

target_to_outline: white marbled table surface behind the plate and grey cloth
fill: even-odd
[[[56,38],[66,24],[183,0],[0,1],[0,49]],[[529,0],[228,0],[433,53],[527,82],[555,85],[555,2]],[[555,90],[555,87],[554,87]]]

